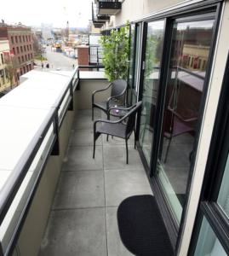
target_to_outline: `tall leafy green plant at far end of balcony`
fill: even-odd
[[[108,36],[102,36],[100,44],[103,48],[102,63],[106,78],[109,81],[128,79],[129,23],[118,30],[112,30]]]

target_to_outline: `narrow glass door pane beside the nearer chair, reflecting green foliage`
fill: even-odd
[[[146,61],[142,94],[142,111],[140,116],[140,147],[150,166],[152,139],[154,130],[157,91],[163,49],[164,21],[148,23],[146,38]]]

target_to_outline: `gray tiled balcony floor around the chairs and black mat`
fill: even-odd
[[[79,111],[40,256],[133,255],[119,238],[117,207],[128,196],[152,190],[134,138],[129,139],[129,165],[124,140],[115,137],[97,140],[93,160],[92,129],[91,112]]]

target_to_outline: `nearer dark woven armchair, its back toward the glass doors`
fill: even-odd
[[[119,111],[129,111],[127,112],[123,118],[112,121],[112,120],[104,120],[98,119],[94,121],[94,150],[93,150],[93,158],[95,153],[95,141],[101,134],[112,135],[114,137],[121,137],[126,142],[126,163],[129,162],[128,156],[128,140],[131,136],[132,132],[135,132],[135,119],[136,113],[140,110],[141,102],[137,102],[135,105],[129,108],[109,108],[108,114],[112,109],[117,109]],[[100,127],[96,127],[98,123],[101,123]],[[136,137],[135,137],[136,144]]]

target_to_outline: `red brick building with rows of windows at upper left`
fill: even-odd
[[[14,66],[15,81],[20,75],[33,69],[31,28],[26,26],[1,26],[0,40],[9,40],[9,49]]]

